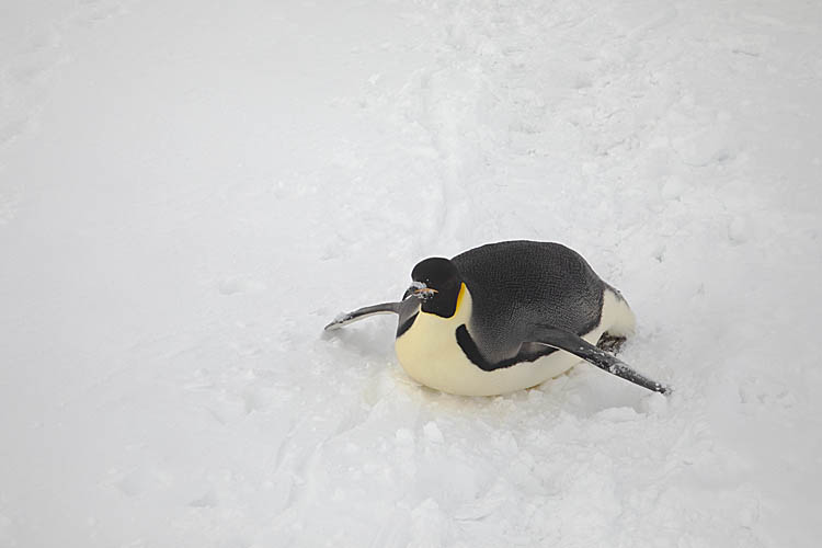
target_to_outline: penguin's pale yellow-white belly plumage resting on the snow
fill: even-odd
[[[494,396],[539,385],[580,362],[573,354],[557,351],[534,362],[522,362],[492,372],[479,368],[463,353],[456,336],[457,328],[468,323],[470,318],[470,294],[466,290],[463,302],[452,318],[420,311],[411,329],[397,339],[397,357],[414,380],[444,392]],[[627,304],[606,290],[600,324],[583,339],[596,344],[605,331],[628,334],[632,328],[633,315]]]

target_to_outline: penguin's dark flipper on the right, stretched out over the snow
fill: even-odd
[[[641,373],[632,369],[625,362],[608,354],[604,350],[597,349],[581,336],[569,331],[549,326],[539,326],[534,335],[533,342],[535,343],[570,352],[585,362],[595,365],[612,375],[616,375],[617,377],[621,377],[635,385],[639,385],[642,388],[664,395],[671,393],[670,386],[646,377]]]

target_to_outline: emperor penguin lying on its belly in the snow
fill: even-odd
[[[425,259],[411,278],[399,302],[341,315],[326,330],[396,313],[402,368],[422,385],[456,395],[530,388],[581,359],[649,390],[670,391],[603,350],[632,334],[633,312],[560,243],[489,243],[453,259]]]

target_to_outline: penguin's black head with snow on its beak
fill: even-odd
[[[450,318],[457,311],[463,278],[459,271],[447,259],[432,256],[420,262],[411,271],[414,284],[406,292],[422,299],[422,311],[442,318]]]

